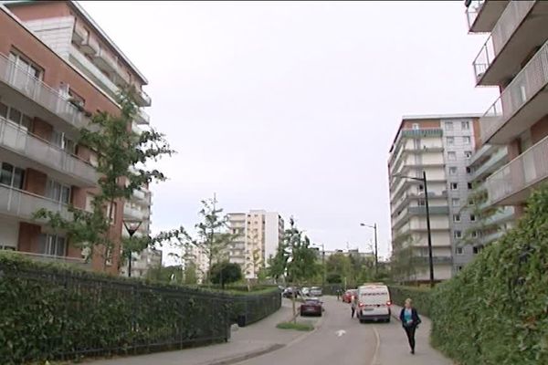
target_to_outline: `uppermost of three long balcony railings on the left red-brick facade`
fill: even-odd
[[[24,69],[16,67],[14,62],[1,54],[0,82],[23,93],[27,98],[34,100],[41,107],[78,129],[89,124],[90,120],[67,99],[63,98],[57,90],[28,74]]]

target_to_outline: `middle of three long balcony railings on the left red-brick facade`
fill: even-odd
[[[16,151],[29,160],[67,173],[86,186],[94,186],[99,174],[89,163],[79,160],[58,146],[44,141],[0,117],[0,146]]]

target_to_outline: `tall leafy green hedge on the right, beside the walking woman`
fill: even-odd
[[[548,186],[432,303],[432,343],[458,363],[548,364]]]

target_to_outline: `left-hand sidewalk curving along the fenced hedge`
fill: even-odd
[[[291,318],[289,300],[282,301],[282,307],[264,318],[244,328],[237,328],[227,343],[205,346],[196,349],[183,349],[156,352],[141,356],[128,356],[110,360],[86,362],[90,365],[227,365],[247,360],[261,354],[280,349],[291,341],[311,332],[299,332],[276,328],[279,322]],[[235,326],[236,327],[236,326]]]

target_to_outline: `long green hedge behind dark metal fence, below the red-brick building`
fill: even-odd
[[[227,295],[2,253],[0,362],[72,360],[223,341],[238,317],[251,323],[280,305],[277,288]]]

